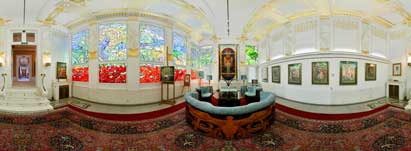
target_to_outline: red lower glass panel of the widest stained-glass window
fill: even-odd
[[[126,83],[126,65],[120,64],[100,64],[100,83]]]

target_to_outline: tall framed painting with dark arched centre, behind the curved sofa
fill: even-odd
[[[237,44],[220,44],[219,79],[233,80],[237,76]]]

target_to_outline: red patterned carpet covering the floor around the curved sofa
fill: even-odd
[[[277,109],[269,131],[241,140],[194,132],[182,108],[139,121],[103,120],[71,107],[33,116],[1,114],[0,150],[411,150],[411,116],[398,108],[339,121],[305,119],[282,110],[286,108]]]

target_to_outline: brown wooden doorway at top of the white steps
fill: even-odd
[[[36,46],[12,45],[13,87],[35,87]]]

